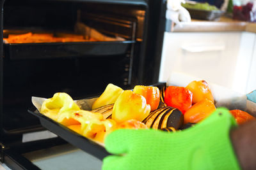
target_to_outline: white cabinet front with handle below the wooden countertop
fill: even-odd
[[[256,74],[251,66],[254,44],[250,32],[165,32],[159,81],[175,71],[237,92],[256,89],[248,81]]]

